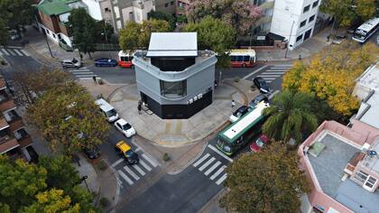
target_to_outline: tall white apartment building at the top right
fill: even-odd
[[[270,32],[288,40],[290,50],[312,36],[321,0],[275,0]]]

